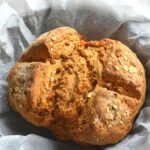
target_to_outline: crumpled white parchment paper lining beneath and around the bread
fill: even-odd
[[[63,143],[8,106],[10,68],[37,36],[59,26],[74,27],[86,39],[118,39],[142,61],[147,73],[145,104],[132,131],[120,143],[89,148]],[[150,150],[149,78],[149,0],[0,0],[0,150]]]

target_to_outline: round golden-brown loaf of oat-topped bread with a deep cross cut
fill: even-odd
[[[8,75],[9,103],[28,122],[60,140],[119,142],[145,97],[144,68],[124,44],[85,41],[72,28],[41,35]]]

